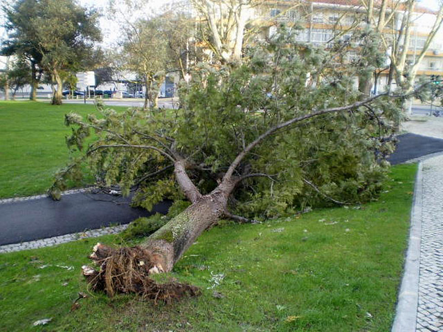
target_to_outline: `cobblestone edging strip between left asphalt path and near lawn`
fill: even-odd
[[[127,226],[128,225],[118,225],[114,227],[100,228],[98,230],[87,230],[86,232],[61,235],[60,237],[50,237],[48,239],[42,239],[42,240],[6,244],[5,246],[0,246],[0,253],[51,247],[51,246],[56,246],[57,244],[76,241],[80,239],[101,237],[102,235],[107,235],[107,234],[116,234],[118,232],[125,230]]]

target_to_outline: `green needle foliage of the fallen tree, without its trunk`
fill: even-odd
[[[98,140],[82,159],[98,182],[118,185],[123,194],[134,190],[134,204],[151,208],[165,198],[183,199],[174,181],[177,158],[186,159],[188,174],[206,194],[251,142],[299,118],[266,136],[235,168],[242,181],[230,209],[264,219],[374,199],[392,151],[392,120],[399,117],[397,102],[387,95],[359,104],[354,77],[383,61],[377,35],[359,31],[325,48],[295,42],[296,33],[280,27],[249,46],[242,64],[199,64],[181,86],[179,109],[118,113],[98,104],[101,117],[69,114],[73,131],[66,142],[84,149],[84,138],[96,131]],[[355,48],[364,59],[349,59]],[[57,174],[51,192],[79,176],[78,161]]]

